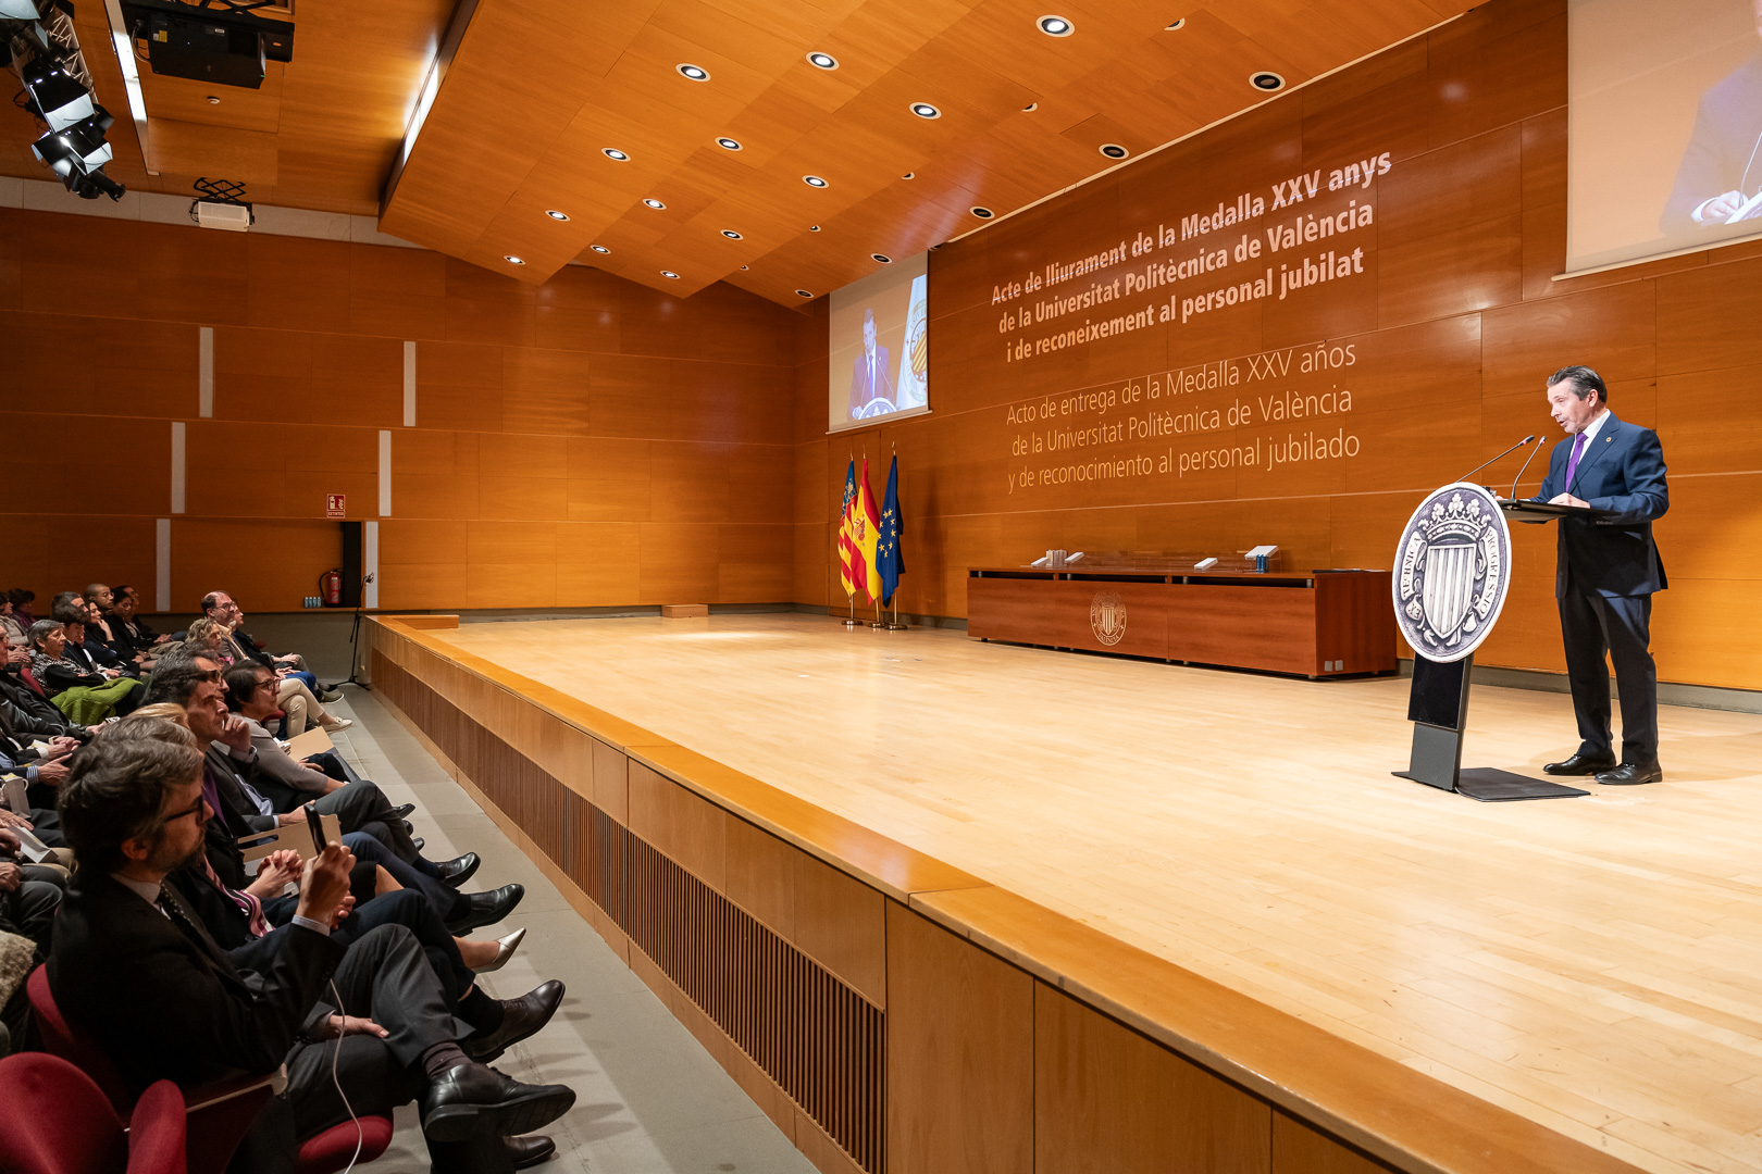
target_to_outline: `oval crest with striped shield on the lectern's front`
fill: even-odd
[[[1491,493],[1457,482],[1420,502],[1396,547],[1396,625],[1427,660],[1487,639],[1512,584],[1512,532]]]

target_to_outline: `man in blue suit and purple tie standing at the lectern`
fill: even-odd
[[[1665,590],[1651,523],[1670,509],[1663,447],[1649,428],[1616,419],[1609,389],[1588,366],[1547,380],[1549,412],[1566,438],[1549,454],[1547,479],[1533,502],[1589,507],[1595,517],[1559,519],[1554,595],[1566,642],[1579,750],[1549,762],[1549,774],[1595,774],[1616,787],[1656,783],[1658,667],[1651,657],[1651,597]],[[1609,729],[1609,667],[1621,697],[1621,759]]]

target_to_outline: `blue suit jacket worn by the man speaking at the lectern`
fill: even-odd
[[[1570,493],[1593,509],[1609,510],[1610,517],[1586,521],[1559,519],[1559,560],[1554,572],[1554,595],[1566,595],[1566,586],[1577,586],[1605,597],[1651,595],[1669,586],[1663,560],[1653,542],[1651,525],[1670,509],[1670,488],[1663,477],[1663,445],[1658,433],[1639,424],[1626,424],[1610,412],[1596,429],[1572,484],[1566,484],[1566,463],[1577,437],[1565,437],[1549,454],[1547,477],[1535,502],[1547,502],[1559,493]]]

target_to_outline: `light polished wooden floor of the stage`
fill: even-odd
[[[1762,1170],[1762,716],[1665,708],[1667,781],[1475,803],[1406,681],[1295,681],[800,614],[442,642],[1649,1170]],[[1477,688],[1538,773],[1565,695]]]

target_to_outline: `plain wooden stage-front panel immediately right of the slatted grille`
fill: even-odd
[[[888,1170],[1029,1174],[1034,980],[895,901],[886,966]]]

